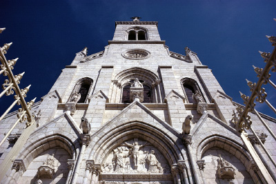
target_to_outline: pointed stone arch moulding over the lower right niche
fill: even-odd
[[[225,150],[235,156],[244,165],[246,171],[250,174],[251,178],[253,178],[253,181],[255,183],[259,181],[259,178],[261,177],[257,174],[257,172],[253,171],[253,167],[257,166],[253,165],[250,154],[246,151],[246,149],[244,149],[244,147],[242,147],[242,145],[224,136],[213,135],[202,140],[197,147],[197,161],[200,161],[203,158],[205,152],[215,147],[220,150]]]

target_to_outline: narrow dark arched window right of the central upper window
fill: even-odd
[[[184,94],[186,95],[187,103],[197,103],[195,94],[199,94],[203,101],[205,101],[204,96],[202,95],[201,90],[197,85],[197,81],[194,79],[185,78],[181,80],[181,84],[184,90]]]

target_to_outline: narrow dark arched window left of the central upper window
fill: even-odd
[[[90,78],[83,78],[77,81],[75,88],[72,91],[72,94],[68,101],[72,101],[73,96],[77,93],[80,94],[80,96],[78,97],[79,101],[77,101],[77,103],[86,103],[92,83],[93,81]]]

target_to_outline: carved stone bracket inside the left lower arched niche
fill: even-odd
[[[47,159],[37,171],[38,178],[52,178],[55,175],[54,155]]]

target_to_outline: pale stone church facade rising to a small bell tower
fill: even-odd
[[[7,161],[23,123],[0,147],[1,183],[275,183],[273,161],[235,129],[242,105],[197,53],[170,51],[156,21],[115,25],[103,51],[78,52],[34,104],[36,126],[20,151]],[[275,162],[275,138],[250,115]],[[261,115],[275,132],[276,119]],[[1,121],[0,138],[16,118]]]

